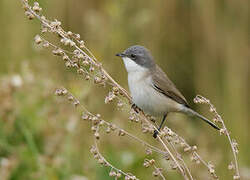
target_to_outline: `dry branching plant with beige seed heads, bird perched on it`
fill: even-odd
[[[61,22],[58,20],[50,21],[45,16],[41,15],[42,8],[40,8],[37,2],[34,3],[34,6],[31,7],[28,4],[28,0],[21,0],[23,3],[23,7],[25,10],[25,15],[29,19],[37,18],[42,25],[41,33],[52,33],[56,34],[60,37],[60,42],[64,46],[68,46],[72,49],[72,51],[66,51],[61,47],[58,47],[51,42],[45,40],[40,35],[35,36],[35,43],[41,44],[45,48],[52,48],[52,53],[55,56],[60,56],[65,61],[65,66],[68,68],[76,69],[76,72],[83,76],[85,80],[93,80],[94,84],[104,86],[109,85],[111,86],[111,90],[108,96],[105,98],[105,103],[113,102],[114,100],[118,100],[117,106],[122,107],[123,105],[128,105],[127,101],[131,102],[131,97],[129,93],[122,88],[102,67],[102,64],[95,58],[95,56],[91,53],[91,51],[85,46],[84,41],[80,40],[80,35],[75,34],[71,31],[64,31],[61,27]],[[204,161],[200,155],[197,153],[196,146],[190,146],[186,143],[186,141],[174,133],[171,129],[165,127],[162,132],[160,132],[159,136],[157,137],[158,142],[162,145],[163,150],[154,147],[145,141],[135,137],[134,135],[128,133],[122,128],[117,127],[114,124],[111,124],[107,121],[101,119],[100,115],[93,115],[84,108],[80,101],[77,100],[71,93],[69,93],[66,89],[59,89],[56,91],[56,95],[65,96],[69,101],[71,101],[76,107],[82,107],[85,113],[82,115],[83,120],[90,120],[92,123],[91,130],[94,133],[95,142],[100,139],[100,126],[106,125],[106,133],[110,133],[112,131],[117,131],[119,136],[127,136],[130,137],[138,142],[140,142],[143,146],[147,147],[147,153],[150,154],[152,151],[163,154],[166,160],[169,158],[172,161],[172,169],[178,169],[178,172],[183,176],[184,179],[193,179],[191,175],[191,171],[188,169],[187,165],[185,164],[184,160],[181,158],[179,152],[177,152],[175,146],[181,145],[183,147],[184,152],[190,152],[191,158],[199,164],[202,162],[207,168],[212,178],[217,179],[217,175],[215,174],[214,166],[210,163]],[[200,98],[201,99],[201,98]],[[199,102],[199,101],[197,101]],[[208,103],[209,104],[209,103]],[[221,117],[216,112],[213,105],[210,105],[211,112],[215,113],[215,119],[218,122],[221,122],[225,131],[221,131],[221,133],[225,133],[230,141],[230,144],[233,149],[234,157],[235,157],[235,169],[236,175],[234,179],[239,179],[239,170],[238,164],[236,159],[237,154],[237,143],[231,140],[228,131],[226,130],[225,124],[222,121]],[[131,115],[129,118],[132,122],[139,122],[141,121],[142,124],[142,132],[144,133],[153,133],[154,130],[157,130],[156,126],[153,123],[153,119],[151,117],[147,117],[143,112],[139,112],[139,114],[131,111]],[[105,158],[100,154],[97,143],[95,143],[94,148],[96,150],[96,154],[94,153],[95,158],[98,159],[100,164],[107,165],[111,168],[110,176],[120,178],[121,175],[125,176],[125,179],[136,179],[135,176],[131,175],[130,173],[125,173],[115,167],[113,167],[110,163],[108,163]],[[170,150],[172,148],[172,151]],[[234,166],[232,166],[234,167]],[[160,175],[163,179],[161,170],[155,167],[155,171],[153,174]]]

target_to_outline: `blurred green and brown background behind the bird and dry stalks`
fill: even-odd
[[[32,2],[32,1],[31,1]],[[191,106],[196,94],[209,98],[239,143],[242,179],[250,179],[250,13],[239,0],[49,0],[39,1],[44,13],[80,33],[87,46],[121,85],[127,88],[122,61],[115,57],[130,45],[152,51],[158,64]],[[83,81],[60,58],[34,45],[37,20],[24,16],[20,1],[0,1],[0,179],[111,179],[89,152],[90,125],[65,100],[57,87],[70,89],[93,113],[155,143],[128,123],[128,114],[105,105],[107,90]],[[184,115],[168,117],[168,126],[196,144],[201,156],[216,166],[220,179],[232,179],[226,138]],[[102,134],[100,150],[118,168],[152,179],[145,169],[145,149],[114,135]],[[161,157],[153,156],[159,160]],[[189,157],[185,157],[189,163]],[[161,161],[159,161],[161,166]],[[190,164],[196,179],[209,179],[202,165]],[[166,167],[163,167],[166,168]],[[169,179],[182,179],[164,171]]]

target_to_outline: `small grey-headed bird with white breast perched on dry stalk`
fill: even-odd
[[[128,86],[133,101],[132,108],[139,108],[152,116],[163,117],[158,129],[153,133],[154,138],[157,137],[167,115],[171,112],[196,116],[213,128],[220,130],[217,125],[189,106],[175,84],[156,64],[147,48],[133,45],[116,56],[122,58],[128,73]]]

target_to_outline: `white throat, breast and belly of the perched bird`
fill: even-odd
[[[128,85],[133,102],[144,112],[160,116],[182,108],[181,104],[152,87],[153,83],[148,69],[139,66],[129,58],[123,58],[123,61],[128,71]]]

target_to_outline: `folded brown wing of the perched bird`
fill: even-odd
[[[156,65],[152,72],[153,88],[174,101],[189,107],[187,100],[162,69]]]

